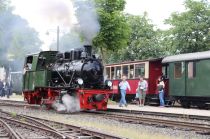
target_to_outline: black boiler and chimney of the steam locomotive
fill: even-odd
[[[104,84],[101,60],[92,54],[90,45],[56,55],[55,63],[49,67],[52,86],[75,88],[101,88]]]

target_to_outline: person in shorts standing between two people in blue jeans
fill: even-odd
[[[138,87],[136,89],[139,106],[144,106],[148,83],[142,76],[139,76]]]

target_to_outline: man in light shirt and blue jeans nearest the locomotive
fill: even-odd
[[[127,102],[126,102],[126,90],[128,89],[131,91],[129,83],[126,81],[127,77],[125,75],[122,76],[122,81],[119,84],[120,87],[120,94],[121,94],[121,99],[120,99],[120,104],[119,107],[122,107],[125,105],[127,107]]]

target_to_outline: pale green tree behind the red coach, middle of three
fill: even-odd
[[[109,62],[120,62],[160,57],[163,54],[159,39],[162,32],[154,30],[147,13],[143,16],[126,15],[126,20],[131,28],[128,46],[111,54]]]

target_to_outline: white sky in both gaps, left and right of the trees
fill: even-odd
[[[184,11],[184,0],[126,0],[124,12],[143,15],[146,11],[152,23],[158,28],[166,29],[164,19],[172,12]],[[49,49],[52,41],[56,41],[56,27],[61,33],[68,30],[76,22],[71,0],[12,0],[14,13],[29,22],[29,25],[39,32],[44,42],[42,49]],[[46,32],[49,32],[48,35]]]

